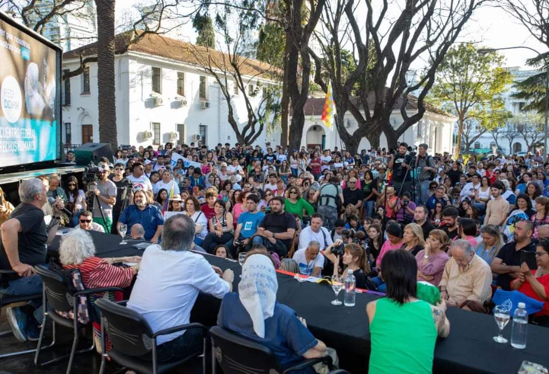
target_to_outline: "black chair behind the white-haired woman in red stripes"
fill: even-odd
[[[36,366],[46,366],[49,364],[53,364],[54,362],[58,362],[60,360],[69,358],[69,364],[66,370],[67,374],[69,374],[72,368],[72,360],[74,359],[75,354],[89,352],[95,348],[95,345],[93,343],[93,337],[92,337],[92,346],[90,348],[76,351],[76,345],[78,344],[78,339],[79,339],[79,330],[85,327],[92,326],[91,320],[88,323],[81,323],[78,321],[79,297],[81,295],[86,297],[87,299],[86,306],[88,308],[88,314],[91,315],[91,301],[89,298],[90,295],[96,294],[96,293],[108,292],[108,291],[124,291],[124,289],[120,287],[105,287],[105,288],[86,289],[84,291],[75,292],[74,289],[72,289],[71,285],[69,285],[67,281],[64,280],[63,277],[61,277],[57,272],[48,269],[47,266],[38,265],[38,266],[35,266],[35,269],[38,275],[40,275],[40,277],[42,278],[42,282],[43,282],[42,300],[44,305],[44,320],[42,321],[42,328],[40,329],[40,338],[38,338],[38,345],[36,347],[34,362]],[[46,310],[46,305],[48,305],[49,307],[48,310]],[[58,311],[59,312],[72,311],[74,318],[67,318],[67,317],[61,316],[58,313]],[[46,362],[40,362],[40,351],[43,349],[41,348],[42,339],[44,338],[44,330],[46,330],[46,322],[48,317],[53,322],[53,327],[52,327],[52,331],[53,331],[52,334],[53,334],[53,340],[54,340],[53,343],[55,342],[55,325],[56,324],[65,326],[68,328],[72,328],[74,337],[72,339],[72,348],[71,348],[70,354],[63,355]]]

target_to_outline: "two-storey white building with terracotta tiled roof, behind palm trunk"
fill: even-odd
[[[127,44],[124,34],[116,36],[115,86],[116,127],[119,144],[149,146],[168,141],[191,143],[201,140],[213,147],[217,143],[237,142],[227,120],[228,107],[215,78],[195,64],[189,43],[149,34]],[[96,43],[64,54],[63,69],[80,66],[80,55],[96,55]],[[218,55],[221,55],[218,52]],[[249,92],[274,82],[262,78],[268,66],[248,60]],[[243,77],[246,78],[246,77]],[[247,123],[248,111],[243,95],[229,82],[237,122]],[[250,97],[255,108],[262,90]],[[97,104],[97,63],[65,81],[63,90],[63,142],[99,142]],[[257,126],[259,127],[259,125]],[[254,144],[264,144],[266,126]],[[276,138],[278,139],[278,138]]]

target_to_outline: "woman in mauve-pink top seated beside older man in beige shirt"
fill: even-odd
[[[416,254],[417,280],[425,281],[438,287],[442,279],[444,266],[448,262],[449,240],[442,230],[432,230],[425,242],[425,249]]]

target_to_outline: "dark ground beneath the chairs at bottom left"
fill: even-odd
[[[7,320],[5,319],[5,309],[2,309],[0,314],[0,331],[10,330]],[[48,329],[51,331],[51,329]],[[60,341],[57,348],[50,348],[44,350],[43,354],[40,354],[41,360],[47,361],[54,358],[55,355],[63,355],[69,353],[71,342],[72,342],[72,333],[70,330],[63,327],[58,327],[58,340]],[[46,339],[44,339],[46,340]],[[86,339],[81,339],[82,342],[79,343],[79,348],[83,349],[85,347],[91,346],[91,341]],[[45,342],[48,344],[51,340],[48,338]],[[57,344],[56,344],[57,345]],[[0,337],[0,353],[8,353],[19,350],[33,349],[36,348],[36,342],[26,342],[20,343],[16,340],[12,334]],[[34,365],[33,362],[34,354],[25,354],[20,356],[14,356],[10,358],[0,359],[0,374],[13,373],[13,374],[38,374],[38,373],[51,373],[51,374],[64,374],[66,372],[68,359],[58,362],[57,364],[49,365],[46,367],[38,368]],[[72,364],[72,373],[98,373],[100,366],[100,356],[97,352],[85,353],[77,355],[74,363]],[[201,364],[200,361],[197,362],[198,365],[194,365],[192,368],[181,368],[175,371],[176,373],[189,373],[189,374],[199,374],[201,373]],[[121,367],[108,363],[107,370],[105,373],[115,373],[120,372]],[[125,373],[125,370],[121,371]]]

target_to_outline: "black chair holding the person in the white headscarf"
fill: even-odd
[[[212,367],[217,373],[217,362],[223,374],[271,374],[288,373],[292,370],[305,369],[319,362],[332,368],[332,358],[325,356],[317,359],[304,359],[299,364],[283,369],[272,350],[254,340],[229,332],[221,327],[210,328]]]

